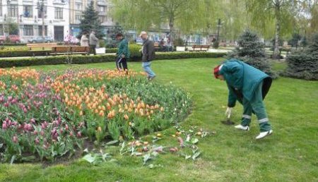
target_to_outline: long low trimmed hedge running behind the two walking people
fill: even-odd
[[[217,58],[225,56],[224,53],[214,52],[160,52],[156,53],[155,60],[158,59],[189,59],[189,58]],[[67,56],[48,56],[41,58],[28,58],[28,59],[4,59],[0,61],[0,68],[11,68],[13,66],[39,66],[39,65],[55,65],[64,64]],[[73,55],[73,64],[82,63],[101,63],[112,62],[116,59],[115,55],[95,55],[95,56],[83,56]],[[141,56],[135,56],[129,61],[141,61]]]

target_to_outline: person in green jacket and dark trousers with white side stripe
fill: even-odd
[[[128,66],[127,66],[127,61],[129,59],[128,41],[124,38],[124,35],[122,35],[122,33],[117,33],[116,39],[120,41],[118,44],[118,51],[117,51],[117,58],[116,58],[117,70],[122,71],[122,68],[124,68],[124,71],[128,73]]]

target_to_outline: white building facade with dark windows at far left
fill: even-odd
[[[43,15],[41,5],[43,3]],[[66,0],[0,0],[0,35],[8,35],[8,23],[16,23],[21,42],[45,35],[63,41],[69,34],[69,2]],[[12,32],[11,32],[12,34]]]

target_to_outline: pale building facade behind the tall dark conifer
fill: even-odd
[[[80,33],[79,24],[83,16],[83,11],[93,1],[95,10],[98,11],[99,20],[106,33],[109,28],[114,26],[112,18],[109,15],[111,4],[109,0],[70,0],[69,1],[69,23],[71,35],[77,36]]]

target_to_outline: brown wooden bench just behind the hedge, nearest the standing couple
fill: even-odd
[[[83,46],[54,46],[52,47],[51,55],[58,54],[88,54],[90,47]]]

